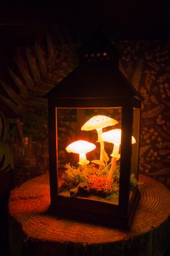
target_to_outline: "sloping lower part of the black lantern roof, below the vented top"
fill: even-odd
[[[79,66],[47,94],[48,98],[126,98],[138,97],[133,85],[120,70],[108,65]]]

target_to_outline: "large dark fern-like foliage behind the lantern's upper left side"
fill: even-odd
[[[7,93],[0,98],[14,111],[15,132],[19,131],[21,138],[22,134],[36,141],[48,137],[48,106],[43,96],[76,67],[73,47],[73,43],[63,40],[55,46],[47,35],[45,46],[35,41],[34,47],[19,49],[14,58],[17,72],[8,67],[16,90],[9,82],[0,80]]]

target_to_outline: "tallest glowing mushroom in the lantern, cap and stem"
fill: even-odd
[[[107,153],[104,151],[104,142],[101,138],[102,128],[109,127],[117,124],[118,121],[112,119],[109,116],[92,116],[91,119],[86,121],[86,123],[81,127],[82,131],[91,131],[92,129],[97,129],[98,140],[100,142],[100,161],[107,162],[109,160]]]

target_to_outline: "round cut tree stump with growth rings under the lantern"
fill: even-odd
[[[9,199],[12,256],[161,256],[170,241],[170,192],[140,175],[141,199],[130,231],[48,213],[48,174],[16,187]]]

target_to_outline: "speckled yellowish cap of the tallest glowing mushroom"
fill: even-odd
[[[91,131],[91,129],[100,129],[104,127],[109,127],[111,125],[118,124],[118,121],[112,119],[109,116],[92,116],[91,119],[86,121],[86,123],[81,127],[82,131]]]

